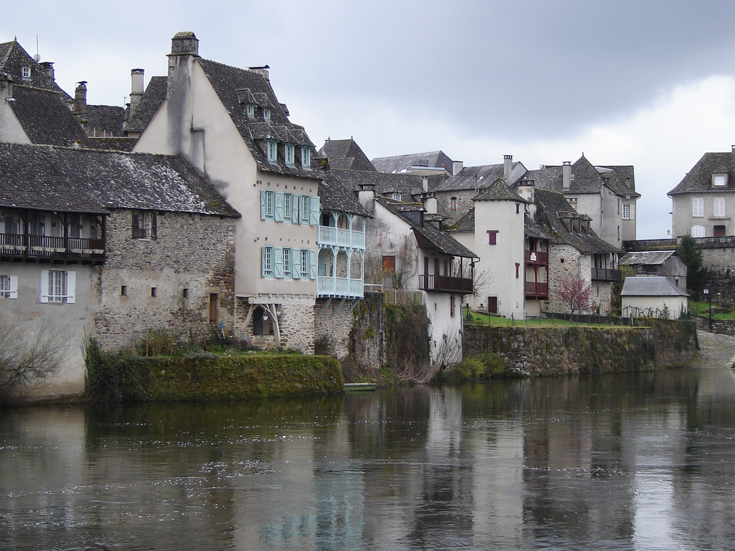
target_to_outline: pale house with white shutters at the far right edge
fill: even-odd
[[[706,153],[670,192],[675,237],[735,234],[735,145],[727,153]]]

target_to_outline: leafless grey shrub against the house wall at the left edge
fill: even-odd
[[[0,400],[23,386],[48,381],[69,351],[65,332],[51,323],[0,312]]]

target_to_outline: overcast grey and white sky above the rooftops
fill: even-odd
[[[635,165],[639,239],[666,237],[675,187],[735,143],[733,1],[26,1],[3,7],[73,95],[123,105],[130,69],[165,75],[171,37],[270,65],[291,120],[365,154],[441,149],[526,168],[585,156]]]

